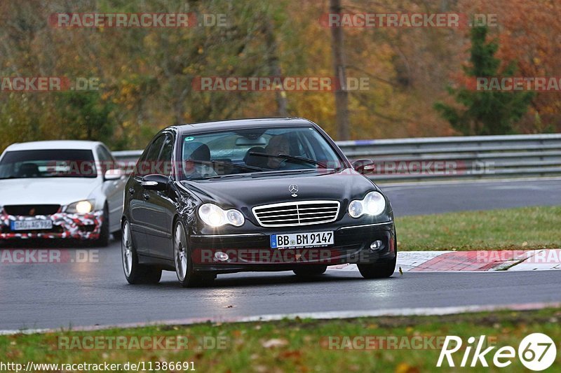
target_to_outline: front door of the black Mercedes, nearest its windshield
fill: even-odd
[[[172,176],[173,134],[163,134],[163,146],[154,164],[154,174]],[[144,206],[147,210],[147,241],[148,252],[158,258],[173,258],[171,242],[171,224],[175,204],[169,197],[168,190],[144,189]]]

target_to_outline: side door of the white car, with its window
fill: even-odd
[[[98,146],[96,149],[97,158],[100,160],[100,165],[103,175],[108,169],[115,169],[116,160],[113,155],[105,148],[105,146]],[[114,232],[119,230],[121,222],[121,215],[123,214],[123,192],[125,188],[125,177],[118,180],[104,180],[103,193],[107,199],[107,208],[109,209],[109,230]]]

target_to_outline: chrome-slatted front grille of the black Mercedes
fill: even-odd
[[[303,201],[266,204],[253,208],[263,227],[288,227],[329,223],[337,219],[339,201]]]

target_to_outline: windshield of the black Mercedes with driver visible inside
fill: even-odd
[[[337,169],[337,153],[313,127],[252,128],[182,139],[182,178]]]

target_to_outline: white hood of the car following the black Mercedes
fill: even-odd
[[[93,192],[97,178],[12,178],[0,180],[0,206],[71,204]]]

